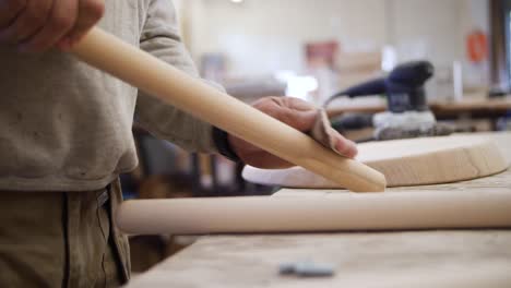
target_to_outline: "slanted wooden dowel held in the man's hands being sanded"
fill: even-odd
[[[377,192],[385,188],[385,178],[377,170],[338,156],[306,134],[97,27],[72,51],[92,67],[346,189]]]

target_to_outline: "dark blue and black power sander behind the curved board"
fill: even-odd
[[[385,77],[370,80],[330,97],[335,98],[387,95],[388,111],[376,115],[350,115],[333,121],[336,130],[373,127],[371,140],[393,140],[419,136],[448,135],[452,128],[437,123],[426,100],[425,83],[433,75],[428,61],[413,61],[397,65]]]

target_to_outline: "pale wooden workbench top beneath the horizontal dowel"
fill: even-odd
[[[511,158],[510,133],[490,135]],[[511,170],[473,181],[389,190],[511,193]],[[275,196],[325,193],[335,191],[286,189]],[[335,275],[278,275],[281,263],[304,260],[332,263]],[[209,236],[128,287],[511,287],[511,229]]]

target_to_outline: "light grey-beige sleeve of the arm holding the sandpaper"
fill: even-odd
[[[181,41],[175,8],[169,0],[148,1],[140,39],[141,49],[199,79],[193,61]],[[221,86],[209,83],[218,89]],[[135,121],[157,137],[187,151],[216,152],[211,124],[139,92]]]

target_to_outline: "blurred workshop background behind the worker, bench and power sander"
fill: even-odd
[[[169,0],[170,1],[170,0]],[[247,103],[294,96],[318,106],[333,94],[427,60],[428,105],[460,132],[511,130],[511,0],[175,0],[183,41],[203,77]],[[346,113],[387,109],[385,97],[340,97]],[[371,128],[343,131],[354,140]],[[241,165],[188,154],[133,128],[140,167],[122,178],[126,197],[270,194],[248,183]],[[133,269],[193,238],[133,237]]]

